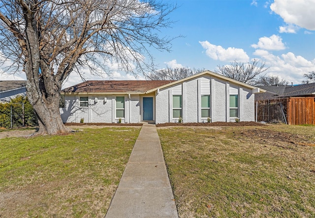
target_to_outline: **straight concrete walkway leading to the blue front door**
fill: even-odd
[[[105,218],[178,218],[155,125],[142,126]]]

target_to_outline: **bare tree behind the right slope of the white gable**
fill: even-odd
[[[269,67],[266,67],[265,62],[253,59],[248,63],[234,61],[231,62],[230,65],[218,65],[218,68],[219,70],[216,70],[216,73],[243,83],[256,85],[257,76],[266,71]]]

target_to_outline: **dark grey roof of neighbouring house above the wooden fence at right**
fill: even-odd
[[[257,86],[266,90],[266,93],[257,95],[259,99],[273,99],[279,97],[297,97],[315,95],[315,83],[298,86]]]

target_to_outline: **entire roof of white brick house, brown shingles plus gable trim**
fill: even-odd
[[[122,94],[122,93],[153,93],[158,89],[167,88],[169,86],[176,85],[178,83],[185,82],[190,79],[202,75],[210,75],[220,78],[224,81],[231,82],[245,88],[251,89],[252,93],[264,93],[265,90],[259,89],[257,87],[248,85],[246,83],[239,82],[237,80],[222,76],[220,74],[206,70],[204,72],[189,76],[181,80],[94,80],[86,81],[75,86],[71,86],[62,91],[62,93],[112,93],[112,94]]]

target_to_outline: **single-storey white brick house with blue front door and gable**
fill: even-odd
[[[178,81],[86,81],[62,91],[64,123],[254,121],[264,92],[211,71]]]

